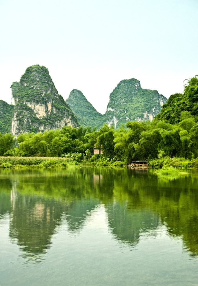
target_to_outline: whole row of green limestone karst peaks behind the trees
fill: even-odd
[[[66,125],[99,129],[104,123],[119,128],[128,121],[151,121],[167,101],[157,90],[141,88],[139,80],[124,79],[110,93],[106,112],[101,114],[80,90],[73,89],[65,101],[55,88],[48,69],[40,65],[28,67],[20,81],[12,83],[11,89],[12,105],[0,101],[0,132],[11,131],[16,136]],[[12,115],[11,127],[8,126],[9,116],[5,116],[6,125],[2,121],[2,114],[7,112],[2,113],[2,110],[9,110],[9,116]]]

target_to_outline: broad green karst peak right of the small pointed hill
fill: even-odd
[[[127,121],[151,121],[166,101],[157,90],[141,88],[137,79],[120,81],[110,94],[106,122],[118,128]]]

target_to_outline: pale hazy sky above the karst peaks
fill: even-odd
[[[123,79],[167,98],[198,74],[198,0],[0,0],[0,99],[26,68],[105,113]]]

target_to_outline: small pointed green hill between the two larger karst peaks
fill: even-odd
[[[104,124],[105,116],[93,107],[80,90],[73,89],[66,102],[82,127],[97,126],[99,129]]]

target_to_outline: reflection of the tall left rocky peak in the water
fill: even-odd
[[[42,258],[60,224],[63,206],[53,198],[24,196],[16,191],[10,198],[10,238],[17,241],[25,256]]]

